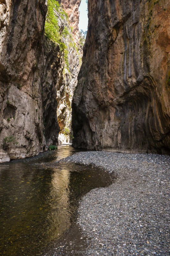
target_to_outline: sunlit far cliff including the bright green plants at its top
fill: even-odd
[[[59,44],[63,53],[60,74],[57,74],[57,80],[55,81],[55,90],[57,119],[60,127],[58,141],[59,143],[66,143],[72,141],[71,101],[77,85],[82,54],[82,46],[79,44],[80,33],[78,31],[78,6],[80,1],[68,2],[62,0],[59,3],[48,0],[45,35],[54,44]],[[53,114],[51,113],[51,115]],[[46,119],[48,119],[48,116]],[[53,129],[50,124],[51,122],[48,120],[47,122],[51,127],[50,129],[55,131],[55,128]],[[47,122],[45,121],[45,124]]]

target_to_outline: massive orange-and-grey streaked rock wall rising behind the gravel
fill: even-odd
[[[89,0],[73,146],[170,153],[170,1]]]

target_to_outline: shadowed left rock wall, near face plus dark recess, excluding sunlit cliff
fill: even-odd
[[[35,156],[57,142],[55,85],[63,54],[45,40],[45,2],[0,4],[0,162]]]

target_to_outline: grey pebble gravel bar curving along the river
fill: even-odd
[[[170,156],[88,151],[61,161],[116,176],[111,186],[81,199],[77,223],[87,248],[69,255],[169,255]]]

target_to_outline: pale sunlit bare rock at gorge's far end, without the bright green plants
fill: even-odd
[[[57,93],[57,119],[60,127],[59,144],[72,142],[71,102],[77,85],[82,57],[82,45],[79,43],[80,33],[78,30],[79,4],[79,0],[61,1],[62,10],[68,14],[68,18],[67,15],[61,15],[60,11],[55,12],[59,30],[61,32],[67,31],[67,33],[61,33],[66,51],[64,52],[62,70],[60,75],[58,75],[55,85]]]

